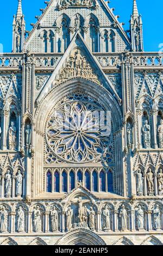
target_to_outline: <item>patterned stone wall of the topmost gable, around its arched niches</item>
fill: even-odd
[[[68,7],[64,5],[63,8],[58,8],[58,4],[62,4],[62,2],[64,1],[53,0],[48,4],[45,11],[42,11],[42,15],[38,18],[35,25],[33,25],[34,28],[26,39],[26,50],[40,52],[40,41],[44,31],[48,34],[52,33],[54,38],[58,37],[57,33],[58,29],[62,26],[62,17],[65,17],[67,21],[69,33],[73,34],[75,32],[74,23],[77,13],[80,15],[80,19],[83,22],[83,31],[87,31],[89,21],[92,19],[92,22],[95,22],[97,29],[99,29],[100,37],[105,29],[108,29],[108,31],[112,30],[115,33],[117,52],[129,49],[129,39],[123,30],[122,24],[118,22],[117,16],[112,13],[112,9],[108,7],[104,0],[92,1],[93,8],[90,8],[89,6],[81,7],[80,5],[68,5]],[[97,8],[95,8],[95,3]],[[86,38],[86,40],[88,40],[88,38]]]

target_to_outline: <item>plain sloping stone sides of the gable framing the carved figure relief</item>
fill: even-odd
[[[57,67],[55,67],[55,70],[51,75],[51,78],[49,78],[49,80],[47,81],[47,84],[42,88],[39,96],[36,99],[36,102],[41,102],[43,97],[45,97],[46,94],[52,89],[52,87],[55,86],[55,84],[58,81],[58,77],[60,76],[62,68],[65,66],[65,63],[67,63],[67,60],[71,58],[72,51],[78,50],[78,49],[84,53],[84,55],[86,56],[87,62],[89,62],[90,67],[91,68],[93,67],[92,80],[97,82],[99,79],[100,84],[103,85],[106,88],[106,90],[108,90],[112,94],[112,96],[117,100],[117,102],[121,103],[121,99],[118,96],[117,92],[115,91],[115,88],[111,85],[109,79],[101,69],[99,62],[92,55],[91,51],[89,50],[89,47],[87,47],[84,39],[78,32],[74,35],[66,52],[60,59],[60,62],[58,63]],[[96,74],[95,74],[95,70],[96,70]],[[88,76],[88,79],[90,79],[90,76]]]

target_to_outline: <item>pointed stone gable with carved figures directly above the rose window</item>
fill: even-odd
[[[77,54],[80,56],[81,65],[75,63],[77,60]],[[85,62],[85,68],[83,68],[83,62]],[[71,68],[72,65],[73,67]],[[36,102],[41,102],[43,97],[45,97],[53,87],[60,84],[62,81],[71,80],[72,78],[77,77],[91,80],[99,86],[103,86],[112,94],[112,97],[121,104],[121,99],[115,88],[111,85],[97,59],[92,55],[89,48],[86,46],[84,39],[78,32],[74,35],[66,52],[53,71],[53,74],[42,87]]]

